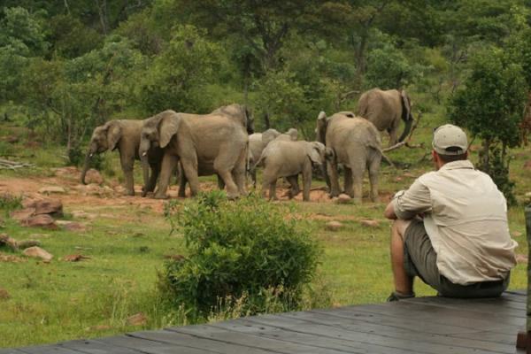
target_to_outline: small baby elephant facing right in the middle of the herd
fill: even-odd
[[[303,199],[310,200],[310,188],[312,186],[312,164],[324,166],[326,159],[333,156],[333,151],[327,149],[320,142],[291,142],[274,140],[270,142],[262,152],[258,163],[264,165],[264,181],[262,184],[262,196],[266,196],[269,189],[269,198],[276,197],[276,181],[280,177],[286,177],[291,188],[289,198],[299,194],[298,174],[303,174]]]

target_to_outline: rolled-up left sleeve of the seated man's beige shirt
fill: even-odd
[[[419,179],[403,193],[393,198],[393,207],[398,219],[412,219],[423,212],[431,212],[432,204],[429,189]]]

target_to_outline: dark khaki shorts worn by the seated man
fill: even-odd
[[[418,276],[446,297],[495,297],[500,296],[509,285],[509,278],[503,281],[482,281],[470,285],[454,284],[439,273],[437,254],[424,228],[424,222],[413,219],[404,235],[404,268],[411,276]]]

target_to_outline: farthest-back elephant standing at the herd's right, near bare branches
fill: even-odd
[[[368,119],[381,132],[389,133],[389,146],[404,141],[412,129],[412,104],[405,90],[370,89],[358,100],[356,114]],[[396,133],[400,120],[404,120],[404,132],[398,139]]]

